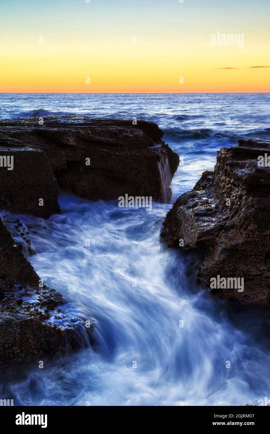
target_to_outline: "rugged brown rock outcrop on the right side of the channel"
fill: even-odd
[[[204,172],[163,223],[168,245],[195,249],[198,279],[224,299],[270,298],[268,155],[270,140],[221,148],[214,172]]]

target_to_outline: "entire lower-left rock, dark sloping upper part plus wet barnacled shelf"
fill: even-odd
[[[0,219],[0,369],[22,368],[94,342],[93,326],[71,319],[63,296],[39,285],[22,246]]]

